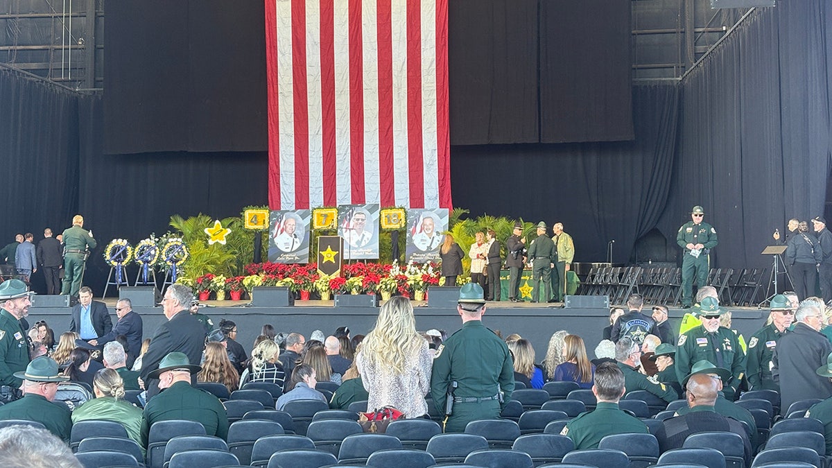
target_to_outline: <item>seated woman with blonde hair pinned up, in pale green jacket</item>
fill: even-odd
[[[141,408],[124,400],[124,381],[118,372],[102,369],[92,379],[96,397],[72,411],[72,424],[87,420],[115,421],[141,446]],[[144,452],[144,448],[141,449]]]

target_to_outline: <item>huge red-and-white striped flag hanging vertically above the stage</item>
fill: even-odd
[[[451,207],[448,0],[265,0],[269,205]]]

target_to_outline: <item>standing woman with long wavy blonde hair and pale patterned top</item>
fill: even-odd
[[[428,341],[416,331],[414,309],[406,297],[394,296],[381,306],[355,361],[369,393],[368,410],[394,406],[408,418],[428,412],[424,396],[430,390],[433,356]]]

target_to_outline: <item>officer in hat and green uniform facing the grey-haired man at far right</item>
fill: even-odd
[[[771,358],[775,355],[775,348],[780,336],[789,332],[789,326],[795,318],[795,312],[791,310],[789,299],[782,294],[771,298],[771,320],[766,326],[755,331],[748,341],[748,356],[745,367],[748,373],[750,390],[775,390],[780,391],[780,386],[775,384],[771,377],[771,369],[774,367]]]

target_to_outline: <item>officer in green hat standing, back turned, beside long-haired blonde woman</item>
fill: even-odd
[[[498,419],[514,391],[508,346],[483,326],[483,288],[464,285],[457,312],[463,327],[436,350],[430,378],[433,403],[445,415],[445,432],[463,432],[470,421]]]

